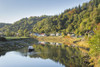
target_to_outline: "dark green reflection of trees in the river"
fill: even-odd
[[[36,52],[41,52],[37,54],[37,57],[41,57],[43,59],[49,58],[68,67],[87,67],[87,64],[84,63],[86,58],[83,58],[84,56],[82,52],[77,47],[34,45],[34,48]],[[34,57],[34,55],[31,57]]]

